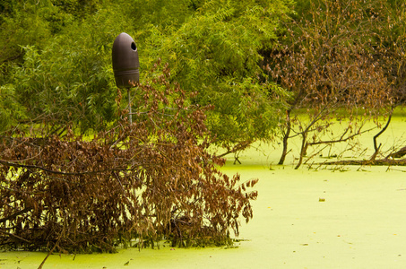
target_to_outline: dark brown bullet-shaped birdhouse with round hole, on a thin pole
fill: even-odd
[[[125,32],[113,43],[113,72],[118,88],[131,88],[131,82],[140,81],[140,61],[134,39]]]

